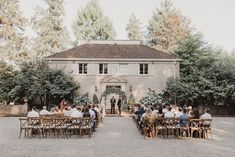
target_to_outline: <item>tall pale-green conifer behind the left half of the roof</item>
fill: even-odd
[[[84,8],[80,8],[77,19],[73,23],[76,42],[79,40],[109,40],[115,37],[110,19],[103,14],[97,0],[90,0]]]

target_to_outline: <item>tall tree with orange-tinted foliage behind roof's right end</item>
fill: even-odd
[[[149,21],[146,39],[151,46],[174,52],[177,41],[184,39],[189,32],[189,20],[173,6],[171,0],[163,0]]]

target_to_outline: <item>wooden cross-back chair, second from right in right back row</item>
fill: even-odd
[[[193,133],[196,131],[198,133],[198,138],[202,136],[202,129],[201,129],[202,120],[201,119],[190,119],[190,135],[191,138],[193,137]]]

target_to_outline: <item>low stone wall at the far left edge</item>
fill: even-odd
[[[28,105],[0,105],[0,116],[25,116]]]

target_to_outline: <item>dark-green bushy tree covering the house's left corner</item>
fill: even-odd
[[[79,86],[61,70],[53,70],[44,61],[24,63],[15,77],[15,86],[9,95],[18,100],[27,97],[33,100],[39,97],[41,105],[53,99],[72,94]]]

